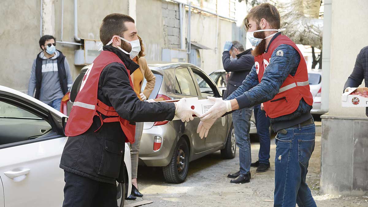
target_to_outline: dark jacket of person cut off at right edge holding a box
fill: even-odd
[[[360,50],[357,60],[355,60],[353,72],[347,78],[347,81],[344,85],[344,90],[347,87],[358,87],[360,84],[362,84],[363,79],[365,87],[368,87],[368,46]],[[368,116],[368,107],[365,108],[365,115]]]

